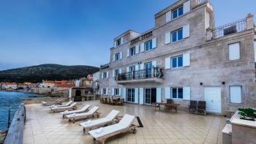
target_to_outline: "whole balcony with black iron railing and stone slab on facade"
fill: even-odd
[[[163,69],[154,67],[133,72],[121,73],[116,77],[116,83],[162,83],[164,77]]]

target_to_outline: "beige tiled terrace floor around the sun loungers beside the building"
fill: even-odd
[[[102,105],[99,101],[82,103],[85,104],[98,105],[101,117],[113,109],[119,110],[119,115],[128,113],[140,117],[144,127],[138,128],[136,134],[119,134],[106,143],[222,143],[225,120],[217,115],[194,115],[181,110],[178,113],[154,111],[151,106],[132,104]],[[26,111],[24,144],[99,143],[89,134],[83,134],[83,128],[78,125],[82,121],[72,124],[62,119],[59,113],[50,113],[48,107],[39,104],[26,105]],[[135,124],[138,124],[137,120]]]

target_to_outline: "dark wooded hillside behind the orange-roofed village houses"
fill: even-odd
[[[32,67],[8,69],[0,71],[0,82],[23,83],[25,81],[38,83],[42,80],[71,80],[86,77],[99,71],[91,66],[64,66],[59,64],[41,64]]]

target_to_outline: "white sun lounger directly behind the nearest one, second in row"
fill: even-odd
[[[80,126],[83,126],[83,132],[86,132],[86,129],[93,129],[95,127],[104,126],[106,124],[111,124],[116,116],[118,115],[118,110],[111,110],[111,112],[105,118],[99,118],[97,120],[89,120],[83,123],[80,123]]]

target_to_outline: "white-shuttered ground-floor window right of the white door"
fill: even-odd
[[[241,86],[230,86],[230,102],[240,104],[242,103]]]

